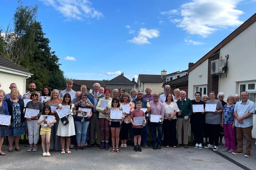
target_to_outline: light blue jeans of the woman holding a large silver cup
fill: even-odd
[[[89,126],[89,123],[90,122],[82,123],[80,121],[75,121],[77,142],[85,143],[86,133],[87,133],[87,128]]]

